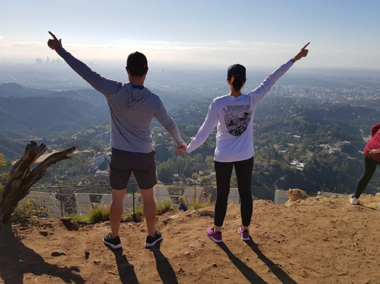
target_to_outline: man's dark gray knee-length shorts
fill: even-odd
[[[109,163],[111,188],[125,189],[132,172],[140,189],[152,188],[157,184],[155,153],[135,153],[112,148]]]

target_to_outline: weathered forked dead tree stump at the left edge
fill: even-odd
[[[76,147],[54,153],[44,159],[33,170],[30,167],[46,150],[45,144],[38,146],[36,142],[30,141],[26,145],[25,153],[21,160],[17,161],[11,169],[9,179],[5,183],[3,191],[0,194],[0,223],[5,223],[10,218],[17,203],[27,196],[29,189],[46,173],[46,169],[57,161],[70,159],[71,153]]]

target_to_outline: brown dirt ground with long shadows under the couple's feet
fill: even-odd
[[[257,200],[247,242],[237,234],[240,207],[230,205],[220,245],[205,234],[212,217],[173,210],[157,216],[163,241],[152,249],[144,222],[122,223],[123,248],[112,250],[101,240],[108,223],[68,230],[59,219],[31,219],[1,228],[0,283],[379,284],[380,196],[359,202]]]

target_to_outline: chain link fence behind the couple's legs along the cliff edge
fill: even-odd
[[[252,186],[251,193],[254,200],[272,200],[275,204],[283,204],[287,201],[286,191],[283,189]],[[160,183],[154,186],[157,204],[170,200],[171,204],[178,206],[181,200],[191,208],[196,202],[214,203],[216,195],[215,184]],[[74,213],[86,214],[96,206],[109,205],[112,194],[109,185],[47,186],[31,188],[24,200],[34,200],[36,205],[42,205],[48,209],[50,217],[59,218]],[[230,189],[228,202],[240,203],[237,188]],[[124,215],[134,215],[136,208],[142,206],[142,198],[136,183],[128,184],[123,204]]]

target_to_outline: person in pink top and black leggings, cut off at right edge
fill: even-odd
[[[359,196],[366,189],[372,175],[376,170],[376,166],[380,165],[380,123],[371,127],[372,138],[364,147],[364,173],[359,178],[356,184],[355,193],[350,197],[350,202],[353,205],[358,204]],[[379,204],[380,208],[380,204]]]

